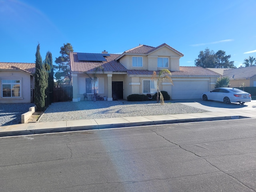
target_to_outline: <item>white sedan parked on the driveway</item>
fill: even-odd
[[[250,93],[237,88],[216,88],[209,92],[204,92],[202,98],[204,101],[214,100],[224,102],[225,104],[230,104],[230,102],[244,104],[252,100]]]

